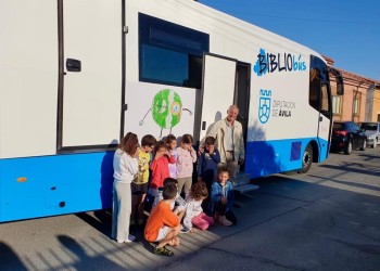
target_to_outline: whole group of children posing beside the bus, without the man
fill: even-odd
[[[129,234],[130,218],[137,227],[142,224],[144,210],[149,215],[144,238],[157,244],[157,255],[173,256],[166,246],[179,245],[180,232],[206,230],[214,220],[237,223],[231,210],[233,185],[219,165],[215,139],[207,137],[199,154],[192,144],[191,134],[183,134],[179,146],[173,134],[159,142],[147,134],[141,146],[135,133],[123,138],[114,156],[112,237],[118,243],[135,240]]]

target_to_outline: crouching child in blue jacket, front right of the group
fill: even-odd
[[[214,219],[224,225],[237,223],[237,218],[231,210],[233,205],[233,184],[228,179],[228,169],[220,168],[218,181],[211,186],[211,209],[214,211]],[[232,221],[228,220],[226,216],[229,216]]]

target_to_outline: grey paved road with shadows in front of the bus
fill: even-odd
[[[0,224],[0,270],[380,270],[380,149],[256,180],[239,224],[182,234],[176,256],[109,238],[106,211]]]

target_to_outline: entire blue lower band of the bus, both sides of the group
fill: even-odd
[[[251,178],[301,168],[317,139],[246,143]],[[328,144],[321,142],[320,162]],[[0,159],[0,222],[112,207],[114,152]]]

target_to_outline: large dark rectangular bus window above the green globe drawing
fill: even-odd
[[[200,89],[208,40],[207,34],[139,13],[140,81]]]

